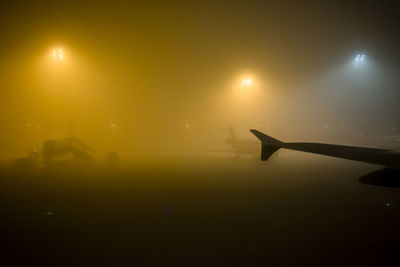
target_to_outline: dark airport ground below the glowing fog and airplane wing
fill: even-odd
[[[281,153],[0,178],[2,266],[396,266],[400,189]]]

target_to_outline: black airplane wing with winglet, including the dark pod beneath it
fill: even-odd
[[[261,141],[261,160],[268,160],[280,148],[385,166],[360,178],[361,183],[400,187],[400,151],[323,143],[285,143],[257,130],[250,130]]]

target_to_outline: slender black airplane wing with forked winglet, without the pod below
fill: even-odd
[[[285,143],[260,131],[250,131],[261,141],[261,160],[267,160],[275,151],[285,148],[400,169],[400,151],[323,143]]]

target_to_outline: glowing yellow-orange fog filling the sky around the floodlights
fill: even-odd
[[[65,136],[127,156],[184,156],[226,148],[226,127],[241,138],[258,128],[286,141],[374,146],[399,133],[398,56],[380,31],[390,19],[372,23],[368,6],[356,15],[340,6],[226,8],[5,5],[2,157]],[[52,58],[59,48],[62,62]],[[356,69],[359,52],[367,62]],[[246,78],[253,84],[243,90]]]

